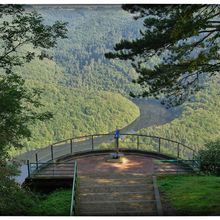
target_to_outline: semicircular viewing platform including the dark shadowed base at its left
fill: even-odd
[[[37,191],[38,189],[39,191],[52,191],[59,187],[69,187],[72,184],[75,161],[78,164],[78,175],[82,178],[83,176],[90,179],[105,178],[107,175],[108,178],[114,179],[120,175],[124,179],[123,184],[126,184],[126,179],[129,180],[129,175],[132,175],[134,180],[134,178],[140,179],[146,175],[166,174],[171,171],[175,173],[181,170],[176,164],[172,164],[171,167],[167,163],[161,164],[160,160],[164,158],[163,155],[160,157],[158,154],[149,155],[145,152],[132,151],[123,153],[125,159],[122,163],[108,162],[110,152],[69,155],[39,168],[37,172],[26,178],[23,185]]]

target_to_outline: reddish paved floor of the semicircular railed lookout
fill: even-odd
[[[187,172],[185,167],[176,163],[161,162],[159,159],[150,156],[132,155],[124,156],[122,162],[109,162],[110,153],[100,155],[88,155],[82,157],[72,157],[46,166],[36,173],[36,177],[60,176],[66,177],[73,175],[74,161],[78,163],[79,175],[99,175],[101,173],[115,174],[144,174],[158,175],[167,173]]]

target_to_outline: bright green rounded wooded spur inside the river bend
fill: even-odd
[[[109,132],[126,126],[139,115],[138,107],[117,93],[34,81],[28,81],[28,85],[44,89],[41,110],[54,114],[52,120],[31,126],[33,138],[25,142],[31,148],[73,136]]]

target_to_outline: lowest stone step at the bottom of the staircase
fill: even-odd
[[[78,204],[78,212],[126,212],[126,211],[142,211],[142,212],[155,212],[155,201],[102,201]]]

